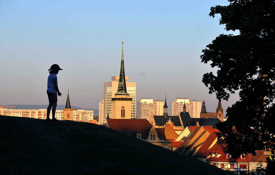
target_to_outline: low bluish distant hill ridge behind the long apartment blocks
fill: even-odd
[[[0,105],[0,106],[15,106],[13,109],[47,109],[48,105]],[[57,110],[63,110],[65,105],[57,105]],[[73,109],[94,110],[94,115],[98,115],[98,109],[81,108],[77,106],[71,106]]]

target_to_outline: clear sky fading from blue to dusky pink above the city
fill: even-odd
[[[48,104],[48,69],[58,64],[57,104],[98,109],[103,83],[119,76],[123,39],[125,76],[136,82],[136,100],[177,97],[218,100],[202,83],[213,71],[202,49],[220,34],[234,34],[208,14],[226,0],[0,1],[0,105]],[[239,99],[222,101],[224,111]]]

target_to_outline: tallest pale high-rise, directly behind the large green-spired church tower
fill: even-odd
[[[130,98],[133,99],[131,106],[131,118],[136,117],[136,82],[128,82],[128,76],[125,76],[127,93],[130,94]],[[103,92],[103,121],[109,113],[109,117],[112,118],[112,98],[117,93],[119,84],[119,76],[112,76],[110,82],[104,82]]]

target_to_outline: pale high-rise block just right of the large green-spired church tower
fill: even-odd
[[[137,102],[137,118],[147,119],[150,115],[163,115],[163,100],[153,100],[152,98],[141,98]]]

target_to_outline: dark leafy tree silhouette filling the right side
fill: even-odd
[[[218,67],[202,82],[217,99],[228,100],[239,91],[240,100],[227,108],[227,120],[218,124],[232,156],[255,150],[275,150],[275,2],[229,0],[211,7],[210,16],[221,15],[220,24],[239,35],[221,34],[208,44],[202,62]]]

